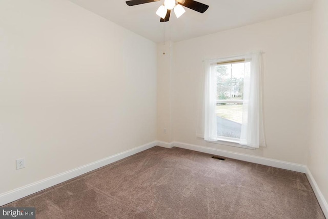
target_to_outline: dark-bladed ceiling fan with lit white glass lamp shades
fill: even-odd
[[[130,0],[126,1],[126,3],[128,6],[134,6],[158,1],[160,0]],[[172,9],[174,9],[174,13],[177,17],[180,17],[186,12],[182,6],[198,11],[199,13],[204,13],[209,8],[208,5],[193,0],[165,0],[164,5],[158,8],[156,14],[161,17],[160,22],[168,22]]]

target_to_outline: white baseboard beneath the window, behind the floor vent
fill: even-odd
[[[199,151],[199,152],[203,152],[203,153],[214,154],[214,155],[218,155],[218,156],[225,156],[225,157],[233,158],[233,159],[240,160],[240,161],[247,161],[247,162],[251,162],[251,163],[255,163],[255,164],[262,164],[262,165],[267,165],[267,166],[271,166],[271,167],[277,167],[277,168],[281,168],[281,169],[293,170],[296,172],[306,173],[305,165],[300,165],[300,164],[295,164],[295,163],[290,163],[290,162],[285,162],[285,161],[279,161],[279,160],[274,160],[274,159],[260,157],[260,156],[253,156],[253,155],[248,155],[248,154],[225,151],[225,150],[204,147],[204,146],[199,146],[199,145],[191,145],[191,144],[186,144],[186,143],[181,143],[181,142],[173,142],[173,146],[178,147],[178,148],[185,148],[185,149],[189,149],[189,150]]]

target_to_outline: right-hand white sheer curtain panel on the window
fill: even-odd
[[[262,112],[262,55],[245,55],[240,145],[265,147]]]

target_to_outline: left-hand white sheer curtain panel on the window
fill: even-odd
[[[205,61],[204,139],[217,141],[216,124],[216,60]]]

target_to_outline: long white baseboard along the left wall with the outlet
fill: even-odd
[[[157,142],[151,142],[145,145],[141,145],[139,147],[132,148],[130,150],[115,154],[113,156],[106,157],[102,160],[75,168],[73,170],[66,171],[64,173],[60,173],[49,178],[45,178],[44,180],[14,189],[9,192],[5,192],[0,194],[0,206],[6,205],[13,201],[18,200],[19,198],[23,198],[35,192],[44,190],[51,186],[57,185],[59,183],[63,183],[65,181],[71,180],[72,178],[90,172],[92,170],[98,169],[100,167],[104,167],[113,162],[119,161],[125,157],[131,156],[133,154],[139,153],[141,151],[147,150],[157,145]]]

